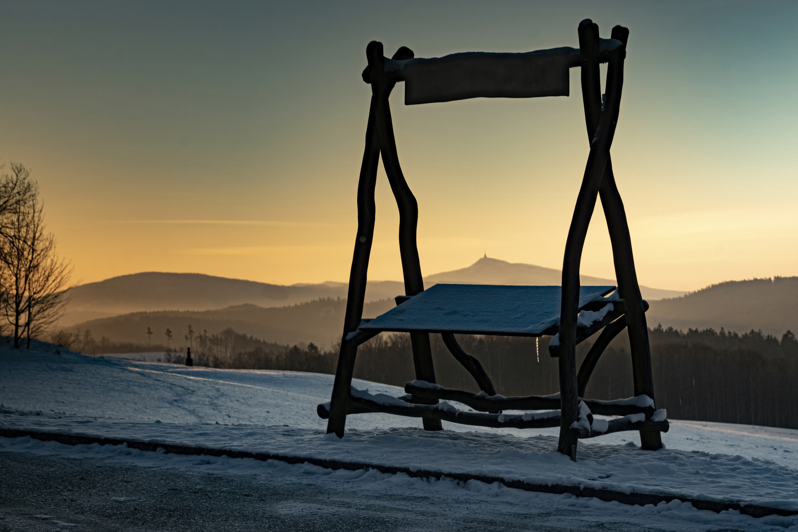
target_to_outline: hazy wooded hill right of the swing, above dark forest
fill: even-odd
[[[721,282],[650,305],[646,320],[651,327],[761,329],[779,338],[788,329],[798,333],[798,277]]]

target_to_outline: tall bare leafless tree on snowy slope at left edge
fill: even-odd
[[[22,164],[0,164],[0,333],[14,348],[30,349],[61,317],[71,274],[46,231],[38,183]]]

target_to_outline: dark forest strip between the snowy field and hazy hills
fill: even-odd
[[[454,360],[440,340],[430,335],[438,384],[479,392],[472,377]],[[713,329],[649,329],[654,389],[658,408],[674,420],[719,421],[798,428],[798,340],[787,331],[780,338],[761,331],[738,334]],[[119,345],[90,333],[74,334],[71,349],[84,353],[164,351],[162,345]],[[191,339],[195,365],[214,368],[282,369],[334,373],[338,349],[313,343],[279,345],[225,329]],[[557,360],[548,355],[549,337],[459,336],[460,345],[478,359],[504,396],[548,394],[559,389]],[[578,346],[577,362],[590,349]],[[168,350],[162,358],[182,364],[184,352]],[[383,333],[361,345],[354,376],[403,386],[415,378],[409,335]],[[606,349],[596,366],[586,395],[618,399],[633,394],[626,335]]]

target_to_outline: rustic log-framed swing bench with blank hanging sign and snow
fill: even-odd
[[[372,97],[358,184],[358,235],[333,393],[330,403],[318,405],[318,415],[329,419],[328,433],[343,437],[349,414],[387,412],[421,417],[425,430],[432,431],[440,430],[441,420],[500,428],[559,426],[558,450],[571,459],[575,459],[579,439],[610,432],[639,431],[642,448],[662,447],[661,432],[668,430],[668,421],[665,411],[656,410],[654,405],[645,316],[648,304],[640,295],[626,214],[610,161],[628,35],[629,30],[615,26],[610,39],[601,39],[599,27],[585,20],[579,24],[579,49],[456,53],[433,59],[414,58],[413,52],[404,46],[388,59],[383,57],[381,43],[369,43],[366,47],[369,66],[363,80],[371,85]],[[602,97],[599,64],[605,62],[606,93]],[[562,286],[439,284],[424,290],[416,246],[417,202],[399,166],[393,136],[388,100],[393,87],[398,81],[405,81],[405,104],[474,97],[568,96],[568,72],[573,67],[582,69],[591,149],[568,231]],[[405,295],[397,296],[396,308],[373,319],[362,319],[380,156],[400,211],[399,246]],[[617,290],[615,286],[579,286],[584,240],[599,195],[610,232]],[[583,399],[599,357],[623,329],[627,329],[630,338],[634,397],[610,401]],[[351,386],[358,345],[382,332],[410,334],[417,380],[405,385],[405,396],[372,395]],[[430,333],[440,333],[452,356],[476,380],[481,389],[479,394],[435,384]],[[576,345],[595,333],[599,337],[577,372]],[[552,357],[559,357],[559,393],[496,395],[490,376],[476,358],[465,353],[455,334],[553,336],[549,351]],[[458,409],[445,401],[455,401],[472,410]],[[597,420],[593,414],[622,417]]]

